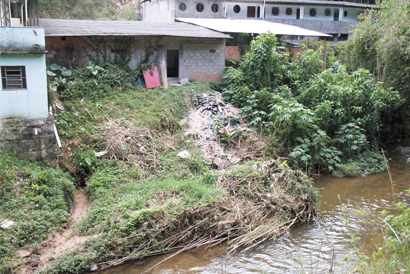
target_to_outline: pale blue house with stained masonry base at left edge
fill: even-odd
[[[54,121],[48,116],[43,28],[0,28],[0,66],[24,66],[26,89],[0,81],[0,153],[57,164]]]

